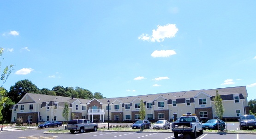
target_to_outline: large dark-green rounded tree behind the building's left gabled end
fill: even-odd
[[[11,86],[7,96],[11,98],[14,103],[18,103],[26,93],[40,93],[40,90],[31,81],[25,79]]]

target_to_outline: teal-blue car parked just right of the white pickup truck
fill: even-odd
[[[219,128],[221,125],[225,128],[226,123],[220,119],[211,119],[211,120],[208,120],[206,123],[204,123],[202,125],[202,128],[204,130],[205,129],[218,129],[218,125],[219,125]]]

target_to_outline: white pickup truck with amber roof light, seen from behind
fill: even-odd
[[[191,134],[192,138],[196,138],[196,133],[203,133],[202,123],[195,114],[183,115],[179,118],[179,122],[173,122],[172,131],[175,138],[178,134]]]

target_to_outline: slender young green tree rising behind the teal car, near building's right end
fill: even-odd
[[[218,116],[219,119],[222,119],[225,109],[223,107],[222,98],[220,97],[218,90],[216,90],[216,96],[213,98],[213,100],[216,116]]]

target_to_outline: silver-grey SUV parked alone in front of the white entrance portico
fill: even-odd
[[[86,130],[98,130],[98,124],[95,124],[87,119],[74,119],[70,120],[67,123],[67,130],[70,130],[70,133],[75,133],[75,131],[79,131],[79,133],[83,133]]]

